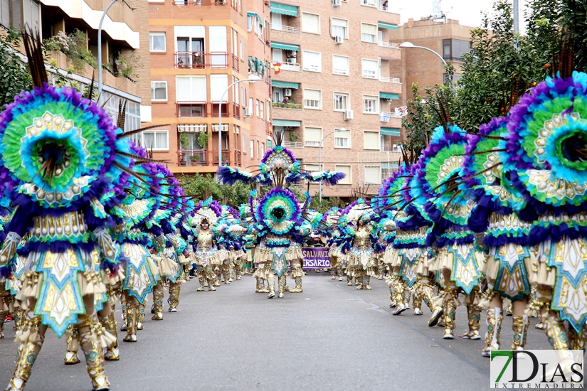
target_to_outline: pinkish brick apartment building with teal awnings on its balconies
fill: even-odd
[[[377,188],[400,160],[399,14],[376,0],[280,0],[270,11],[274,132],[307,171],[347,174],[323,196]]]

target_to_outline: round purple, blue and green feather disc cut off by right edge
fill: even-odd
[[[587,204],[587,74],[552,77],[512,107],[501,159],[538,213],[578,213]]]

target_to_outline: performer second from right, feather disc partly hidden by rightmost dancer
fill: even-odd
[[[484,233],[482,245],[487,249],[485,262],[479,271],[487,279],[487,291],[480,303],[487,309],[487,333],[482,355],[490,357],[491,350],[502,348],[503,300],[513,303],[511,350],[523,350],[526,345],[529,317],[524,314],[530,294],[529,271],[535,262],[534,249],[529,246],[529,223],[520,221],[512,205],[522,195],[512,188],[502,174],[499,159],[499,139],[507,132],[508,119],[493,119],[471,135],[465,161],[462,164],[460,188],[475,200],[468,221],[474,232]]]

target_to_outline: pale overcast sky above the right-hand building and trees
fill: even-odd
[[[396,4],[401,14],[401,23],[405,23],[409,18],[419,20],[421,16],[432,14],[433,0],[390,0],[390,4]],[[520,23],[524,20],[524,6],[526,1],[519,0],[520,3]],[[490,11],[493,0],[442,0],[440,9],[450,19],[457,19],[460,24],[465,26],[478,27],[481,23],[481,13]],[[523,26],[522,26],[523,28]]]

